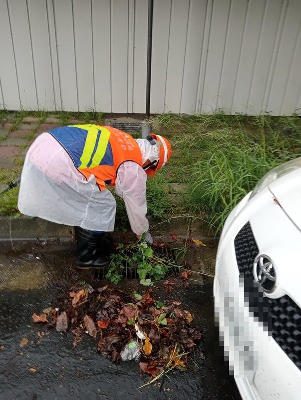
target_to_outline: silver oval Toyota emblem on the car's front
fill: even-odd
[[[278,285],[275,264],[270,257],[259,254],[254,261],[254,279],[266,292],[272,293]]]

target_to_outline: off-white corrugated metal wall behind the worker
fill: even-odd
[[[0,0],[0,104],[145,112],[148,0]],[[151,112],[301,109],[301,0],[154,0]]]

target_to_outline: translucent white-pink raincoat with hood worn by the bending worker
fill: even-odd
[[[137,139],[142,162],[158,159],[158,147]],[[116,194],[124,200],[132,231],[148,231],[146,181],[143,168],[133,161],[120,165]],[[116,201],[109,190],[100,191],[94,175],[87,180],[66,150],[50,133],[42,133],[30,146],[21,176],[19,210],[48,221],[112,232]]]

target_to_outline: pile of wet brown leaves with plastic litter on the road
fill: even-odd
[[[74,335],[73,348],[85,333],[112,361],[139,360],[143,372],[157,379],[173,368],[184,370],[200,340],[193,315],[179,302],[156,301],[151,288],[143,296],[104,286],[73,287],[53,308],[33,321]]]

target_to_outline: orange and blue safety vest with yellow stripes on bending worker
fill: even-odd
[[[119,166],[133,161],[142,166],[137,142],[111,126],[70,125],[49,133],[65,148],[76,168],[88,179],[95,176],[100,190],[114,186]]]

